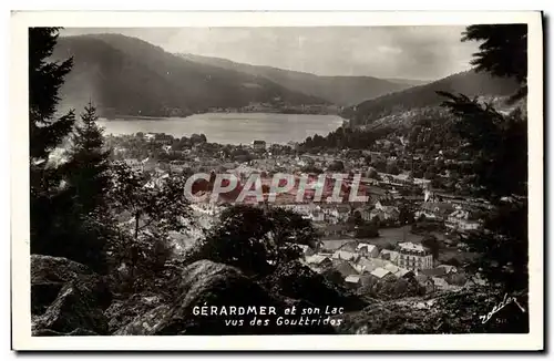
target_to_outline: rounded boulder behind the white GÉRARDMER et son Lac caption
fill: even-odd
[[[322,324],[278,324],[290,303],[275,298],[238,269],[208,260],[196,261],[183,270],[179,296],[172,305],[158,306],[124,326],[115,334],[286,334],[332,333]],[[230,306],[256,313],[220,314]],[[202,307],[205,307],[202,314]],[[275,314],[269,309],[275,308]],[[214,314],[213,310],[217,310]],[[261,311],[264,310],[264,311]],[[261,314],[264,312],[265,314]],[[237,311],[238,313],[238,311]],[[286,317],[286,316],[285,316]],[[288,319],[295,317],[286,317]],[[297,320],[299,317],[296,317]]]

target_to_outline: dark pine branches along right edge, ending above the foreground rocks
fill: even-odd
[[[526,89],[526,25],[469,27],[462,40],[485,40],[475,54],[478,70],[515,76]],[[524,96],[525,91],[519,96]],[[521,110],[509,115],[476,99],[440,92],[443,106],[455,116],[459,135],[473,159],[473,186],[494,210],[480,231],[464,238],[479,254],[468,269],[482,274],[506,292],[525,290],[527,261],[527,120]]]

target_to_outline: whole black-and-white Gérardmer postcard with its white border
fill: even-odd
[[[529,350],[540,12],[13,12],[16,350]]]

